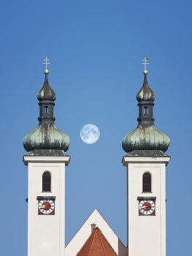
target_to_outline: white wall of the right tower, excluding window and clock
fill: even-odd
[[[169,157],[123,157],[128,184],[128,256],[166,255],[166,164]],[[151,192],[142,176],[151,174]],[[139,216],[138,197],[156,197],[155,216]]]

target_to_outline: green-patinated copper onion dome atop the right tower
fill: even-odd
[[[142,89],[137,94],[139,106],[138,126],[123,139],[123,150],[130,156],[158,157],[164,156],[170,139],[154,125],[153,101],[155,94],[147,83],[147,70],[144,70]]]

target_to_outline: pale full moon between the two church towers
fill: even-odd
[[[85,124],[80,130],[80,138],[87,144],[96,143],[99,140],[99,128],[95,124]]]

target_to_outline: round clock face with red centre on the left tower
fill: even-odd
[[[38,203],[39,215],[54,215],[55,214],[55,201],[50,199],[39,200]]]

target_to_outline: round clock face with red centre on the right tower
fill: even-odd
[[[139,201],[139,215],[155,215],[155,201],[142,199]]]

